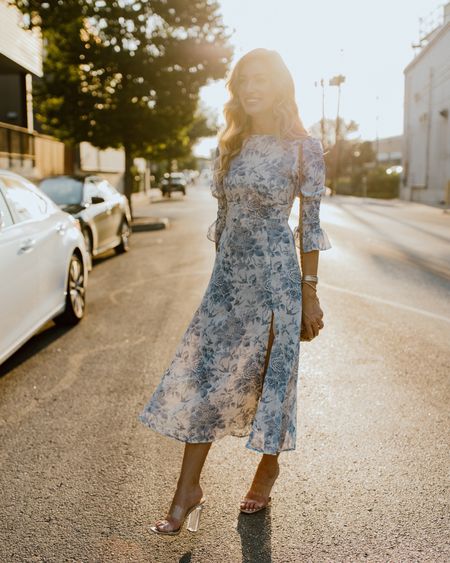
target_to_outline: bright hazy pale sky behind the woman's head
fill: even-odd
[[[414,58],[412,44],[439,20],[445,0],[221,0],[223,22],[232,33],[232,65],[256,47],[277,50],[296,84],[306,128],[320,120],[325,81],[325,116],[336,117],[337,88],[343,74],[340,115],[359,125],[364,140],[401,135],[403,70]],[[419,18],[423,18],[420,24]],[[225,79],[201,91],[202,102],[217,112],[228,99]],[[198,156],[209,156],[216,139],[203,139]]]

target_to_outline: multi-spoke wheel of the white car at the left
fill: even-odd
[[[66,307],[53,319],[57,325],[76,325],[84,317],[86,310],[86,276],[83,261],[77,253],[70,258],[67,277]]]

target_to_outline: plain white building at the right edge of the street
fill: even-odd
[[[450,205],[450,2],[404,70],[403,173],[400,197]]]

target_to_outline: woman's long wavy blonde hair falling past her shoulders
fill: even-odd
[[[272,111],[276,136],[279,139],[309,136],[300,119],[295,101],[294,80],[280,54],[277,51],[261,48],[249,51],[235,64],[226,82],[230,97],[223,109],[225,125],[219,132],[218,155],[216,155],[218,160],[214,167],[215,180],[219,183],[223,181],[231,159],[240,152],[244,140],[250,135],[250,116],[244,111],[238,93],[242,67],[250,60],[259,60],[264,64],[275,88]]]

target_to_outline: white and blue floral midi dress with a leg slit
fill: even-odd
[[[213,180],[217,218],[206,234],[217,244],[211,278],[139,414],[145,425],[183,442],[233,435],[248,436],[246,447],[261,453],[296,448],[302,288],[300,233],[288,219],[301,191],[303,252],[331,248],[319,219],[324,180],[318,139],[273,135],[247,137],[224,181]]]

